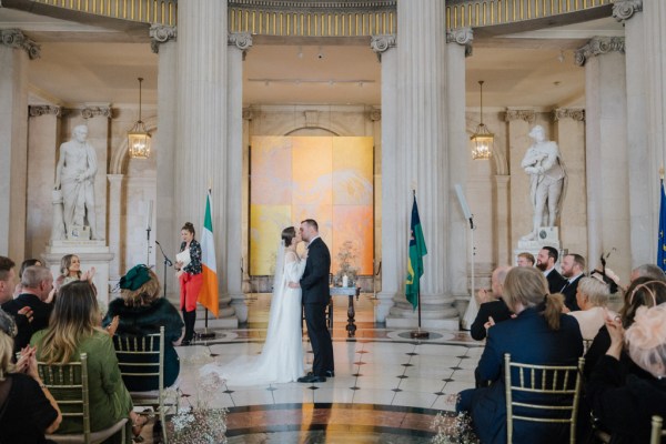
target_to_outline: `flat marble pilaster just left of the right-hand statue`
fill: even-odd
[[[505,114],[508,134],[508,171],[511,174],[511,219],[507,220],[511,220],[509,244],[513,248],[516,248],[518,240],[533,229],[529,175],[523,171],[521,162],[525,157],[525,151],[532,144],[532,140],[527,134],[529,134],[535,119],[536,113],[531,109],[507,109]],[[514,264],[514,262],[512,258],[511,263]]]

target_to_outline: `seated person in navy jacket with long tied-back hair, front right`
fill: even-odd
[[[548,284],[536,269],[515,268],[506,275],[502,296],[516,317],[488,329],[478,373],[491,386],[461,392],[458,412],[468,412],[482,443],[506,443],[506,395],[504,354],[512,361],[536,365],[576,365],[583,354],[583,337],[577,322],[562,313],[559,294],[548,294]],[[515,395],[531,403],[537,393]],[[549,400],[552,401],[552,398]],[[556,412],[553,412],[556,415]],[[568,441],[567,424],[514,423],[516,443],[563,443]]]

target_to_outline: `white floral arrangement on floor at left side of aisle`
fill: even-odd
[[[194,405],[181,407],[180,394],[169,391],[168,397],[175,398],[176,412],[167,423],[169,442],[172,444],[221,444],[226,443],[226,408],[209,408],[224,381],[215,375],[200,377],[196,382]]]

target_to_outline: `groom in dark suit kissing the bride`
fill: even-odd
[[[301,278],[303,291],[303,307],[307,336],[314,352],[312,372],[299,382],[325,382],[333,377],[333,343],[331,332],[326,327],[326,306],[331,299],[329,274],[331,273],[331,253],[319,235],[319,225],[313,219],[301,222],[301,236],[307,242],[307,261]]]

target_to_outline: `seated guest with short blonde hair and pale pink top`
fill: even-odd
[[[576,289],[576,303],[581,307],[569,315],[578,321],[584,340],[593,340],[606,322],[606,304],[608,303],[608,285],[594,279],[583,278]],[[609,312],[613,316],[615,313]]]

